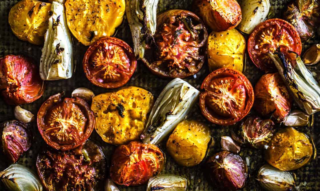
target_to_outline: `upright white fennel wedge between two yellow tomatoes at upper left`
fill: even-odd
[[[42,80],[69,79],[74,61],[64,5],[52,2],[51,13],[40,60],[40,76]]]

